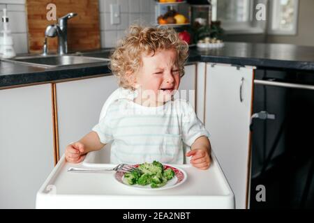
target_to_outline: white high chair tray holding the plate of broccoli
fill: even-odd
[[[114,179],[114,171],[67,171],[69,167],[87,167],[90,164],[68,163],[63,155],[40,187],[36,196],[36,208],[234,208],[234,194],[214,154],[211,167],[206,171],[190,164],[172,164],[186,172],[186,182],[178,187],[156,191],[126,187]],[[100,168],[114,166],[93,164],[93,167]]]

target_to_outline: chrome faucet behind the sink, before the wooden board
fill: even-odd
[[[59,18],[59,24],[47,26],[45,30],[45,42],[43,45],[43,55],[47,55],[47,37],[58,36],[58,54],[68,53],[68,20],[75,17],[77,13],[68,13]]]

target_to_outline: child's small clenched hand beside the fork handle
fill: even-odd
[[[86,156],[84,151],[84,144],[78,141],[66,146],[66,161],[73,163],[82,162]]]

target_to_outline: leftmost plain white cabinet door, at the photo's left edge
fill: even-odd
[[[35,208],[54,167],[51,85],[0,90],[0,208]]]

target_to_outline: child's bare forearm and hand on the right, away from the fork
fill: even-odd
[[[186,153],[186,156],[193,156],[190,159],[190,164],[198,169],[209,169],[211,164],[211,144],[207,137],[198,137],[192,146],[191,151]]]

